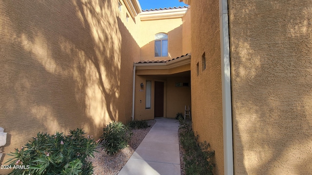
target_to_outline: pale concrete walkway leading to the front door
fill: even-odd
[[[179,122],[166,118],[155,120],[150,132],[118,175],[181,175]]]

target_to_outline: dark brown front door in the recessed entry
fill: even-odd
[[[164,82],[155,82],[155,117],[164,116]]]

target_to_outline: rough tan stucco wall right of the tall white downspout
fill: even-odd
[[[311,0],[229,0],[236,175],[312,174]]]

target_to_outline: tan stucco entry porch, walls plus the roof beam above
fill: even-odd
[[[187,55],[166,63],[137,63],[135,118],[137,120],[154,119],[155,112],[155,81],[164,82],[164,112],[163,117],[175,118],[177,113],[184,115],[185,105],[191,106],[191,56]],[[145,108],[146,87],[140,84],[152,82],[151,108]],[[188,86],[177,87],[176,83],[187,83]]]

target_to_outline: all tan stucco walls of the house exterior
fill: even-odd
[[[98,137],[111,121],[154,119],[154,86],[163,82],[163,117],[190,105],[199,141],[215,151],[214,174],[223,175],[219,3],[180,1],[190,6],[1,1],[0,127],[8,137],[0,163],[38,132],[82,127]],[[228,2],[234,174],[312,174],[312,4]],[[154,56],[157,33],[168,34],[168,57]]]

